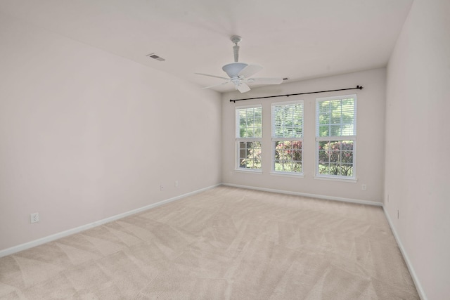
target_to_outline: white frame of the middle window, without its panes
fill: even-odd
[[[274,124],[274,110],[276,106],[285,106],[285,105],[302,105],[302,124],[301,124],[301,137],[281,137],[275,136],[275,124]],[[302,148],[300,149],[302,159],[300,160],[301,171],[276,171],[275,168],[275,158],[276,158],[276,143],[283,141],[300,141],[302,143]],[[284,102],[274,102],[271,103],[271,174],[274,175],[282,175],[282,176],[296,176],[302,177],[304,174],[304,165],[303,165],[303,143],[304,143],[304,100],[292,100],[292,101],[284,101]],[[291,160],[292,162],[292,160]]]

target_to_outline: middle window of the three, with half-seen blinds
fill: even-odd
[[[303,101],[272,104],[272,171],[302,174]]]

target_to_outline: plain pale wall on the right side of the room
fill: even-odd
[[[450,294],[449,15],[448,0],[414,1],[387,68],[385,210],[436,300]]]

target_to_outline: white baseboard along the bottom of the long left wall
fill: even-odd
[[[19,244],[17,246],[13,246],[11,248],[7,248],[7,249],[4,249],[4,250],[1,250],[0,251],[0,257],[11,255],[11,254],[14,254],[16,252],[20,252],[20,251],[23,251],[23,250],[26,250],[26,249],[30,249],[32,247],[36,247],[36,246],[39,246],[41,244],[45,244],[47,242],[53,242],[54,240],[58,240],[61,237],[67,237],[68,235],[73,235],[75,233],[80,233],[80,232],[82,232],[84,230],[88,230],[88,229],[94,228],[96,226],[103,225],[105,223],[116,221],[116,220],[122,219],[122,218],[124,218],[126,216],[131,216],[132,214],[137,214],[137,213],[139,213],[141,211],[146,211],[148,209],[153,209],[155,207],[159,207],[159,206],[161,206],[163,204],[167,204],[169,202],[173,202],[173,201],[176,201],[176,200],[181,200],[184,197],[188,197],[188,196],[191,196],[191,195],[195,195],[195,194],[204,192],[205,190],[210,190],[212,188],[216,188],[219,185],[221,185],[221,184],[211,185],[211,186],[209,186],[207,188],[202,188],[200,190],[194,190],[193,192],[186,193],[186,194],[183,194],[183,195],[179,195],[179,196],[176,196],[176,197],[172,197],[172,198],[169,198],[169,199],[166,199],[166,200],[162,200],[162,201],[157,202],[157,203],[149,204],[149,205],[146,205],[145,207],[141,207],[139,209],[133,209],[131,211],[124,212],[122,214],[117,214],[115,216],[110,216],[110,217],[108,217],[106,219],[102,219],[102,220],[95,221],[95,222],[92,222],[92,223],[89,223],[89,224],[85,224],[85,225],[82,225],[82,226],[79,226],[79,227],[76,227],[76,228],[65,230],[65,231],[62,231],[60,233],[55,233],[53,235],[48,235],[46,237],[41,237],[40,239],[32,240],[31,242],[26,242],[24,244]]]

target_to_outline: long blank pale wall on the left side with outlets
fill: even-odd
[[[219,93],[6,15],[0,41],[0,250],[221,182]]]

